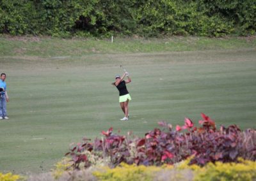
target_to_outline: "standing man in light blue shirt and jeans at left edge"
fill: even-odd
[[[5,73],[1,73],[0,78],[0,119],[9,119],[6,113],[6,102],[9,101],[9,97],[6,91],[6,78]]]

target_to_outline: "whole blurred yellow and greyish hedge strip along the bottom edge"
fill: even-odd
[[[93,169],[70,170],[66,161],[60,161],[56,164],[56,168],[49,173],[38,175],[28,175],[27,177],[21,175],[13,175],[12,173],[0,173],[0,180],[3,181],[54,181],[54,180],[195,180],[195,181],[209,181],[209,180],[241,180],[251,181],[256,179],[256,162],[245,161],[239,159],[239,163],[209,163],[204,167],[189,166],[190,159],[183,161],[175,166],[135,166],[128,164],[121,164],[116,168],[109,168],[107,166],[100,166]]]

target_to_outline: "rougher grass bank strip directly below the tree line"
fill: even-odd
[[[234,50],[256,48],[256,38],[205,38],[205,37],[172,37],[172,38],[109,38],[95,39],[60,39],[35,37],[0,37],[0,55],[36,55],[64,56],[88,54],[120,53],[154,53],[183,52],[198,50]]]

